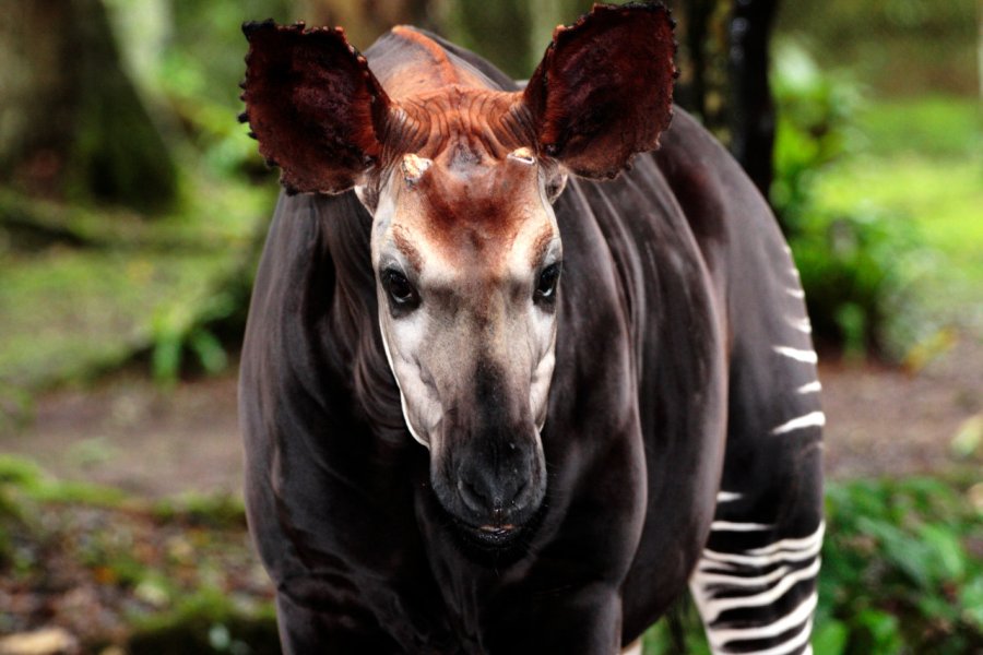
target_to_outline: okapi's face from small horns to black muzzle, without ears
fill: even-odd
[[[545,491],[562,249],[528,147],[406,155],[372,225],[379,324],[443,507],[500,539]]]

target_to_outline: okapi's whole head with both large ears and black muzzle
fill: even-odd
[[[667,11],[595,5],[557,27],[517,92],[411,28],[389,38],[417,55],[380,78],[341,28],[245,31],[260,153],[288,192],[355,189],[372,215],[382,343],[438,500],[482,543],[510,543],[546,489],[562,269],[552,202],[568,172],[611,179],[656,147],[675,76]]]

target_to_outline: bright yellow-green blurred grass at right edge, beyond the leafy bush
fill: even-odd
[[[877,206],[915,226],[928,247],[909,251],[909,302],[891,321],[897,343],[925,349],[946,333],[983,329],[983,126],[974,98],[924,97],[871,103],[856,115],[864,152],[816,180],[821,207],[834,214]],[[902,265],[903,264],[903,265]],[[907,269],[907,270],[905,270]],[[899,320],[900,319],[900,320]],[[944,340],[941,340],[944,341]]]

